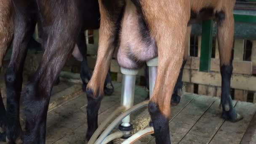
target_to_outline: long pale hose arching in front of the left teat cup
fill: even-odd
[[[103,131],[103,133],[101,134],[101,136],[99,137],[99,139],[97,139],[97,141],[95,142],[95,144],[101,144],[102,141],[104,141],[104,139],[107,137],[107,135],[112,131],[113,128],[115,128],[115,126],[118,125],[118,123],[120,123],[121,120],[123,120],[124,117],[126,117],[127,115],[130,115],[131,112],[134,112],[142,107],[146,107],[148,105],[149,101],[143,101],[139,104],[136,104],[135,106],[131,107],[130,109],[128,109],[127,111],[123,112],[121,115],[119,115],[106,129],[105,131]]]

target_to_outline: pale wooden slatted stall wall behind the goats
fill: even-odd
[[[94,68],[99,41],[98,30],[85,31],[88,43],[88,64]],[[213,38],[211,72],[200,72],[201,36],[191,36],[189,59],[186,63],[183,82],[184,91],[208,96],[221,96],[221,74],[219,69],[219,50],[216,38]],[[116,54],[111,63],[113,80],[121,82],[122,74],[117,64]],[[144,69],[140,69],[137,85],[144,85]],[[234,40],[233,75],[231,80],[232,98],[239,101],[256,103],[256,40]]]

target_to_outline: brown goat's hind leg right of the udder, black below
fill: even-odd
[[[157,78],[149,101],[149,114],[156,143],[171,144],[168,119],[170,94],[173,93],[184,56],[189,3],[182,0],[141,0],[140,5],[158,48]]]

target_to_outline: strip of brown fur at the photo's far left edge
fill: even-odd
[[[11,0],[0,1],[0,67],[3,64],[3,58],[7,48],[13,38],[13,21]]]

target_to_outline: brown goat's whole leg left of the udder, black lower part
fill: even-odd
[[[123,0],[99,0],[101,25],[99,29],[98,55],[93,75],[86,88],[88,99],[88,130],[86,133],[87,141],[89,141],[93,133],[98,128],[98,111],[104,93],[104,80],[106,79],[111,58],[115,50],[115,36],[118,32],[116,26],[120,23],[119,18],[123,5]]]

